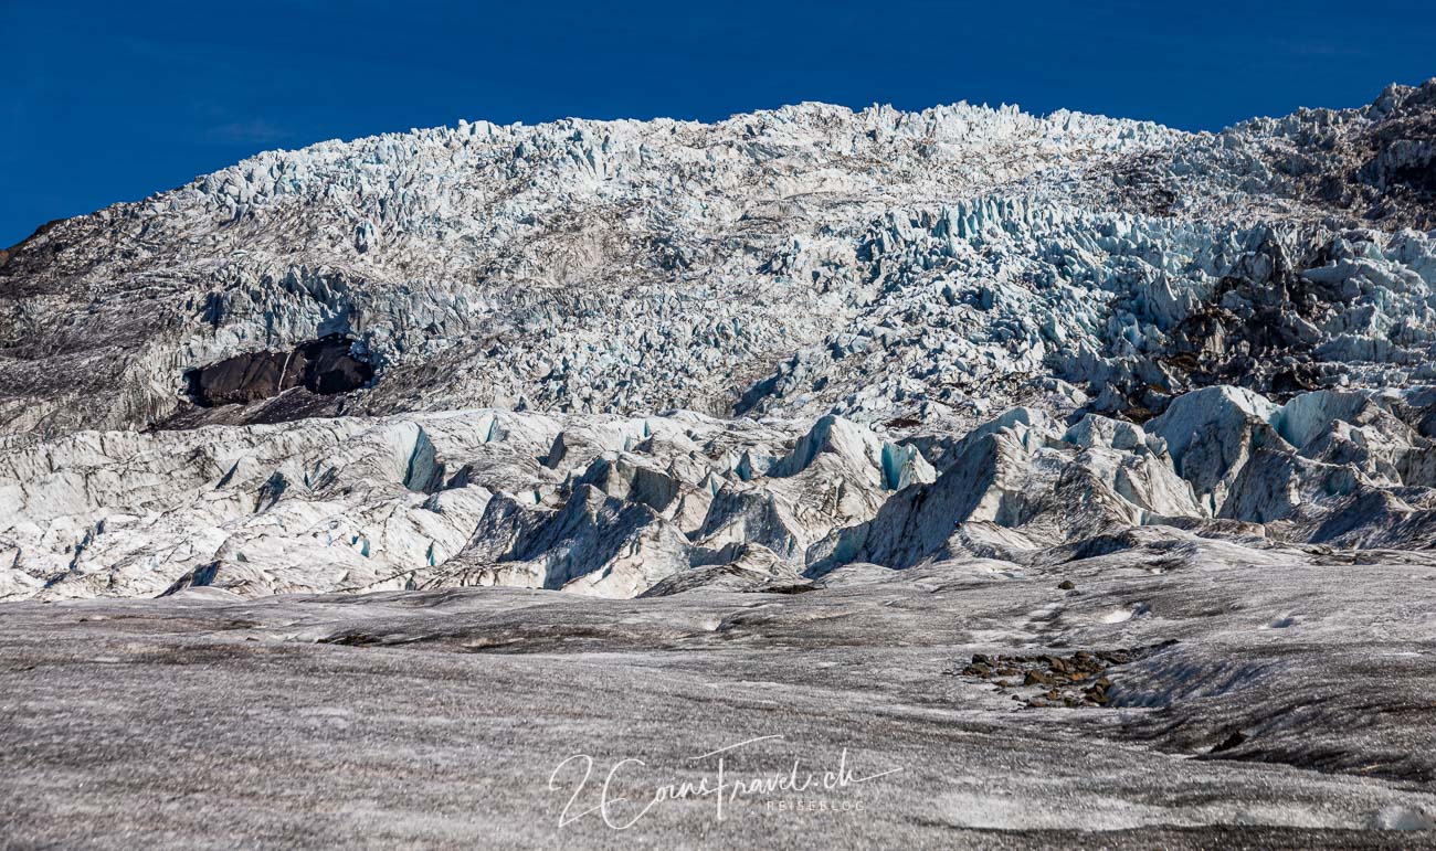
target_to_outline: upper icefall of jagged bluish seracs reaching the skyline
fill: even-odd
[[[1433,90],[1221,135],[806,103],[261,154],[7,253],[0,426],[490,406],[982,419],[1030,402],[1024,376],[1104,413],[1213,383],[1419,383]],[[184,392],[190,370],[322,339],[376,372],[362,390],[241,410]]]

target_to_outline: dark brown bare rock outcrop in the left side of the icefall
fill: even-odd
[[[373,365],[353,354],[353,340],[330,334],[290,352],[248,352],[185,373],[190,399],[201,408],[271,399],[293,387],[330,396],[373,380]]]

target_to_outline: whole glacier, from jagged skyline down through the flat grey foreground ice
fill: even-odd
[[[50,222],[0,253],[7,829],[115,844],[98,740],[157,845],[553,845],[527,768],[675,723],[902,763],[872,842],[1432,829],[1433,356],[1436,80],[1216,133],[461,121]],[[171,763],[289,799],[221,758],[266,736],[392,818],[138,812]]]

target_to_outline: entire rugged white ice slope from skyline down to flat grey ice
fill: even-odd
[[[0,597],[1425,547],[1433,227],[1436,80],[263,154],[0,255]]]

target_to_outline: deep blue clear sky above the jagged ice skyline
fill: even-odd
[[[1433,0],[0,0],[0,245],[257,151],[798,100],[1218,129],[1436,76]]]

